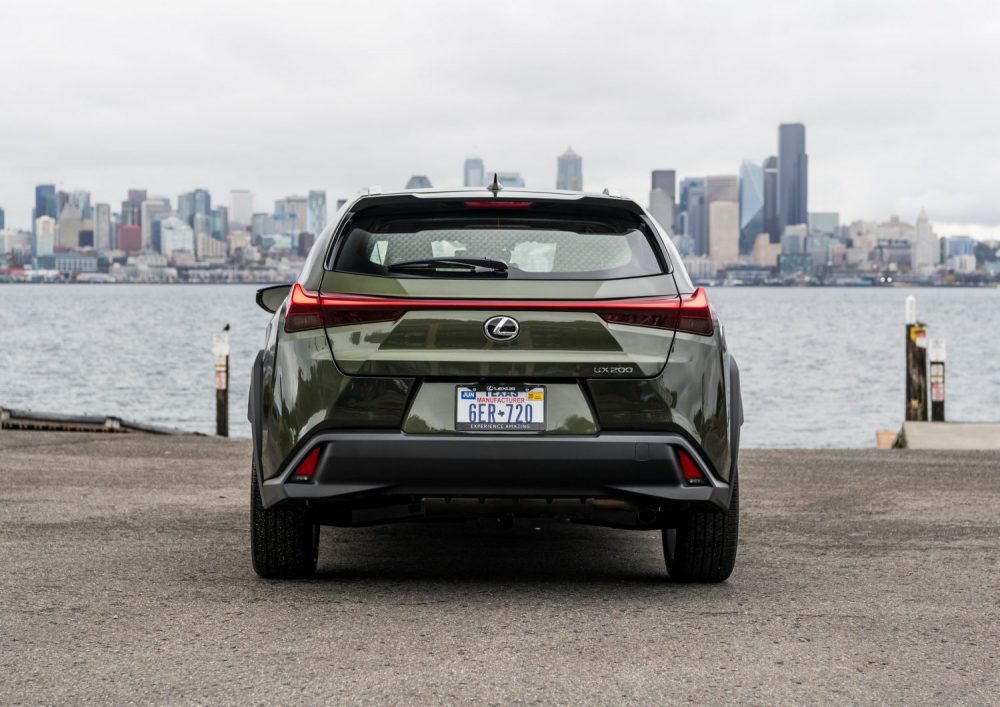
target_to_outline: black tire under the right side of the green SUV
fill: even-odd
[[[663,558],[675,582],[724,582],[736,564],[740,530],[740,482],[733,474],[727,511],[688,511],[663,529]]]

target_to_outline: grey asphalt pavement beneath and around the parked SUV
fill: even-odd
[[[249,443],[0,432],[0,703],[1000,702],[1000,452],[751,450],[736,571],[658,533],[324,528],[258,579]]]

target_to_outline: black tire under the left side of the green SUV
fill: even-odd
[[[250,475],[250,554],[254,572],[267,579],[311,577],[319,557],[319,526],[305,508],[264,508],[256,471]]]

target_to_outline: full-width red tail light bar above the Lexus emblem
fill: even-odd
[[[285,311],[285,331],[304,331],[324,326],[387,322],[409,311],[492,310],[529,312],[591,312],[613,324],[677,329],[711,336],[712,312],[700,287],[686,297],[623,300],[440,300],[370,297],[366,295],[321,295],[307,292],[299,283],[292,287]]]

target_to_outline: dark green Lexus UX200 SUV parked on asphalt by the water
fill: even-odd
[[[671,579],[732,572],[739,372],[635,202],[365,194],[257,301],[260,576],[313,574],[321,525],[484,516],[659,530]]]

